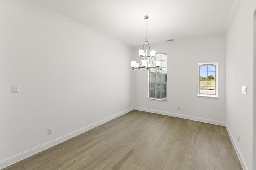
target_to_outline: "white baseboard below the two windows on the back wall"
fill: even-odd
[[[172,112],[167,112],[167,111],[146,109],[146,108],[142,108],[142,107],[134,107],[134,109],[135,110],[139,110],[139,111],[146,111],[146,112],[150,112],[150,113],[156,113],[156,114],[161,114],[161,115],[167,115],[167,116],[179,117],[179,118],[183,118],[183,119],[200,121],[200,122],[210,123],[210,124],[214,124],[214,125],[221,125],[221,126],[225,126],[226,125],[226,123],[224,121],[218,121],[218,120],[213,120],[213,119],[206,119],[206,118],[202,118],[202,117],[183,115],[183,114],[172,113]]]

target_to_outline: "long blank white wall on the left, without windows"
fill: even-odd
[[[130,111],[134,51],[83,29],[1,1],[1,168]]]

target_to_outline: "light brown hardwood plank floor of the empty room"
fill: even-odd
[[[240,170],[226,127],[131,111],[3,170]]]

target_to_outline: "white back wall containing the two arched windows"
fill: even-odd
[[[150,39],[149,39],[150,42]],[[141,48],[141,47],[140,47]],[[148,72],[135,74],[137,109],[223,125],[226,106],[226,38],[224,35],[150,45],[167,54],[168,102],[148,99]],[[135,51],[135,55],[138,52]],[[218,96],[198,97],[198,63],[218,62]],[[180,106],[180,110],[177,107]]]

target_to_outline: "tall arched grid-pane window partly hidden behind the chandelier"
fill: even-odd
[[[167,100],[167,55],[156,53],[155,61],[161,61],[162,70],[150,70],[149,73],[149,98]]]

